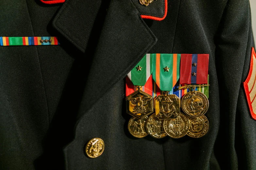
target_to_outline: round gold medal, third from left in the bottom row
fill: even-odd
[[[184,113],[180,113],[179,117],[171,120],[164,120],[163,128],[167,135],[172,138],[180,138],[187,134],[189,128],[189,120]]]

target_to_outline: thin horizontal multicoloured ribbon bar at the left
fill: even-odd
[[[59,45],[55,36],[24,36],[8,37],[0,36],[0,46],[40,46],[40,45]]]

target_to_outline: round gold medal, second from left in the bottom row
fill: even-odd
[[[148,117],[146,128],[149,135],[154,138],[163,138],[167,136],[163,129],[163,120],[158,119],[155,113]]]

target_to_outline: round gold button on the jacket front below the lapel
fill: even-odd
[[[99,157],[105,148],[104,141],[101,138],[93,138],[91,139],[85,147],[85,152],[87,156],[90,158],[97,158]]]

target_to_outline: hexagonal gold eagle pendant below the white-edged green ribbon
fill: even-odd
[[[126,97],[126,112],[131,116],[143,119],[153,111],[153,97],[140,89]]]

